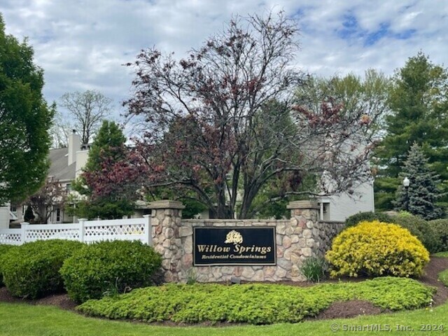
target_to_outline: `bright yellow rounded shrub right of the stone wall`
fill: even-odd
[[[331,276],[420,276],[429,262],[421,241],[399,225],[361,222],[342,231],[325,255]]]

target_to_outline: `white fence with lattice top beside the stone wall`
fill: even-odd
[[[116,219],[112,221],[86,221],[75,224],[22,223],[20,229],[0,229],[0,244],[21,245],[29,241],[69,239],[85,243],[102,240],[140,240],[152,246],[151,216]]]

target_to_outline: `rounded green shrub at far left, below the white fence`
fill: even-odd
[[[11,294],[36,298],[63,290],[59,269],[82,243],[61,239],[17,246],[3,258],[3,281]]]

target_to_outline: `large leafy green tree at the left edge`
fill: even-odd
[[[0,15],[0,204],[20,202],[48,171],[53,111],[42,96],[43,71],[33,48],[5,34]]]

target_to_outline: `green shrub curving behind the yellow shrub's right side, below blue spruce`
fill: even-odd
[[[423,218],[406,212],[400,212],[398,216],[393,216],[393,223],[409,230],[412,235],[419,238],[423,246],[425,246],[430,253],[440,251],[440,246],[442,245],[440,237],[437,236],[433,227]]]

